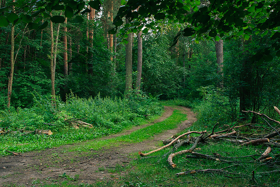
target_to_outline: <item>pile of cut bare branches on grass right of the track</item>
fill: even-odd
[[[276,107],[275,107],[275,110],[279,111],[278,108],[276,108]],[[245,111],[245,112],[255,113],[255,114],[259,115],[266,123],[268,123],[267,120],[269,120],[269,121],[275,122],[278,125],[280,125],[280,122],[278,122],[274,119],[271,119],[264,114],[256,113],[253,111]],[[280,115],[280,111],[278,113]],[[264,119],[264,117],[267,120]],[[252,124],[236,126],[237,124],[238,123],[236,123],[233,127],[227,127],[227,129],[219,131],[219,132],[215,132],[215,127],[218,125],[218,123],[216,125],[214,125],[212,132],[207,132],[207,131],[202,131],[202,132],[191,131],[190,132],[189,131],[184,134],[181,134],[178,137],[172,137],[171,139],[163,140],[164,146],[162,146],[156,150],[150,151],[148,153],[142,153],[141,151],[139,151],[138,154],[141,157],[147,157],[148,155],[150,155],[156,151],[160,151],[164,148],[167,148],[167,147],[173,145],[173,148],[170,149],[170,151],[168,153],[166,153],[162,156],[162,158],[166,158],[166,156],[168,156],[167,162],[172,169],[177,167],[177,165],[173,162],[173,158],[176,156],[182,155],[182,154],[186,155],[185,156],[186,159],[187,158],[189,158],[189,159],[208,159],[208,160],[217,161],[217,162],[221,162],[221,163],[235,163],[235,165],[238,165],[238,163],[240,163],[241,161],[236,161],[236,160],[233,160],[232,158],[251,157],[254,160],[249,161],[249,162],[254,162],[254,163],[272,162],[273,158],[269,154],[272,151],[272,147],[280,147],[280,144],[277,143],[277,141],[280,140],[279,139],[280,138],[280,134],[279,134],[280,128],[276,129],[268,123],[268,126],[273,129],[272,132],[267,133],[267,134],[257,135],[257,136],[253,136],[254,133],[251,133],[250,137],[245,137],[245,136],[240,136],[237,129],[241,128],[241,127],[245,127],[245,126],[251,126],[251,127],[255,127],[255,126],[253,126]],[[198,137],[190,137],[190,134],[192,134],[192,133],[201,134],[201,135]],[[277,136],[279,136],[278,139],[276,138]],[[180,139],[180,138],[184,138],[184,139]],[[240,156],[240,157],[225,157],[218,153],[213,153],[213,155],[206,155],[206,154],[201,154],[199,152],[195,152],[196,150],[201,150],[200,148],[197,148],[197,145],[199,143],[201,143],[201,142],[210,143],[209,141],[228,141],[239,147],[249,146],[249,145],[253,145],[253,146],[254,145],[263,145],[264,147],[266,147],[266,149],[261,155],[255,154],[255,155]],[[191,144],[192,144],[192,146],[189,149],[176,152],[179,147],[184,146],[184,145],[191,145]],[[258,157],[255,158],[256,156],[258,156]],[[278,154],[278,155],[274,155],[274,156],[279,157],[280,155]],[[231,159],[231,160],[229,160],[229,159]],[[231,166],[234,166],[234,165],[231,165]],[[228,166],[228,167],[231,167],[231,166]],[[231,173],[231,172],[228,172],[227,170],[225,170],[228,167],[225,167],[222,169],[187,170],[185,172],[177,173],[176,175],[187,175],[187,174],[194,174],[194,173],[200,173],[200,172],[235,174],[235,173]],[[277,168],[279,168],[279,167],[277,167]],[[278,170],[272,170],[272,171],[266,171],[266,172],[259,172],[258,174],[263,175],[263,174],[275,173],[275,172],[280,172],[280,170],[278,169]],[[229,176],[226,176],[226,177],[229,177]],[[230,178],[232,178],[232,177],[230,177]],[[252,180],[254,180],[254,171],[252,174]]]

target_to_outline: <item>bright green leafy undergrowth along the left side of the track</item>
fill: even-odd
[[[7,151],[26,152],[85,141],[114,134],[125,128],[146,122],[163,111],[156,98],[145,94],[128,98],[78,98],[69,96],[67,101],[54,101],[39,94],[34,96],[32,108],[10,108],[0,111],[0,128],[10,133],[0,136],[0,156]],[[93,128],[74,129],[67,121],[78,118],[93,125]],[[51,130],[53,135],[26,134],[18,129],[34,131]]]

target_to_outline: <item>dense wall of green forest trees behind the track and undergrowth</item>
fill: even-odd
[[[1,5],[1,108],[29,107],[36,92],[66,100],[140,89],[161,99],[200,99],[217,87],[211,102],[231,119],[247,109],[270,112],[279,102],[279,1],[23,2]],[[240,119],[249,118],[256,121]]]

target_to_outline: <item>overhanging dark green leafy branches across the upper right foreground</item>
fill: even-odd
[[[115,28],[111,34],[117,32],[122,26],[123,18],[130,23],[120,29],[121,34],[137,32],[137,29],[148,27],[159,30],[159,24],[151,26],[148,18],[153,17],[154,22],[160,21],[168,24],[186,23],[174,38],[175,45],[181,36],[192,36],[198,43],[200,40],[213,38],[219,41],[221,37],[226,40],[243,36],[249,40],[253,33],[265,36],[271,35],[275,42],[270,48],[252,57],[253,61],[271,61],[270,51],[274,48],[280,56],[280,0],[254,1],[254,0],[128,0],[119,8],[118,15],[113,24]],[[158,22],[159,23],[159,22]]]

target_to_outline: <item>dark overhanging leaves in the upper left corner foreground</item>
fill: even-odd
[[[89,6],[99,10],[101,2],[99,0],[90,1]],[[0,8],[0,27],[6,27],[9,23],[17,25],[20,22],[28,24],[29,29],[42,30],[48,26],[48,19],[54,23],[63,23],[65,17],[73,19],[74,23],[83,22],[83,18],[78,15],[90,12],[85,7],[83,0],[17,0],[9,2],[6,7]],[[52,11],[62,11],[64,16],[51,16]]]

